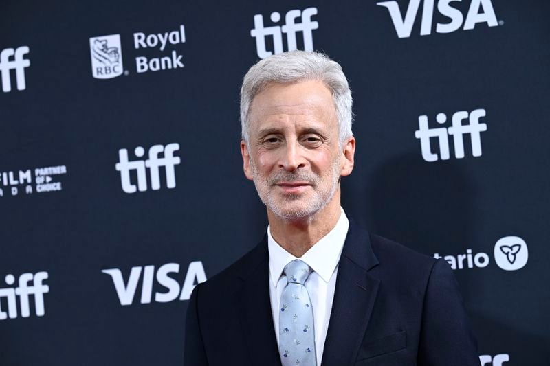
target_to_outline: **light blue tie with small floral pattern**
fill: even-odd
[[[301,260],[285,266],[287,286],[279,309],[279,352],[283,366],[316,366],[314,313],[304,282],[311,268]]]

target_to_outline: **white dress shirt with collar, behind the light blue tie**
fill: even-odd
[[[321,364],[322,352],[325,348],[325,338],[329,328],[334,289],[336,288],[336,275],[338,275],[338,263],[344,247],[349,220],[340,207],[340,218],[336,226],[321,238],[300,258],[313,271],[305,282],[305,287],[311,299],[314,312],[315,352],[317,364]],[[291,253],[285,251],[271,236],[270,227],[267,226],[267,248],[270,252],[270,298],[273,324],[277,345],[279,343],[279,303],[281,293],[287,285],[287,279],[283,275],[283,269],[292,260],[297,259]]]

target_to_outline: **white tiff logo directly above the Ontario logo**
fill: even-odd
[[[452,126],[429,128],[428,116],[421,115],[418,117],[419,129],[415,131],[415,137],[420,139],[420,147],[424,160],[432,162],[437,161],[437,153],[432,152],[430,141],[432,137],[437,137],[439,142],[439,152],[441,160],[448,160],[449,154],[449,136],[452,136],[454,144],[454,157],[462,159],[464,157],[464,139],[463,135],[470,134],[472,142],[472,155],[481,157],[481,133],[487,130],[487,124],[479,123],[479,119],[485,117],[485,109],[476,109],[471,113],[467,111],[458,111],[452,115]],[[467,119],[468,124],[462,124],[462,121]],[[447,122],[447,116],[444,113],[439,113],[435,120],[439,124]]]

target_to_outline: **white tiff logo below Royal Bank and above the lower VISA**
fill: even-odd
[[[147,190],[147,177],[145,174],[145,168],[149,169],[151,176],[151,189],[160,189],[160,174],[159,168],[164,166],[166,170],[166,187],[174,188],[176,186],[175,177],[175,165],[180,162],[179,157],[174,156],[174,152],[179,150],[179,144],[168,144],[166,147],[162,145],[153,145],[149,148],[148,159],[146,160],[128,160],[128,150],[118,150],[118,163],[115,168],[120,172],[120,183],[122,184],[122,190],[126,193],[136,192],[136,186],[131,183],[130,171],[135,170],[137,172],[137,190],[144,192]],[[164,157],[159,157],[159,154],[164,152]],[[143,157],[145,154],[142,146],[137,146],[134,150],[136,157]]]

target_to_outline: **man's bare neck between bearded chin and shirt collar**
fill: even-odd
[[[331,201],[312,216],[286,220],[267,209],[272,237],[285,251],[297,258],[336,226],[340,214],[340,188]]]

